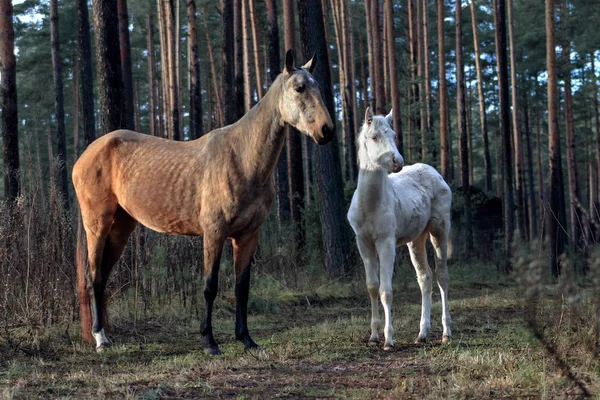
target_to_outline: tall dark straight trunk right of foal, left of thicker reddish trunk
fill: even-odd
[[[496,29],[496,62],[498,64],[498,89],[500,103],[500,132],[502,138],[504,193],[504,250],[505,271],[512,268],[512,238],[515,230],[515,211],[513,193],[513,168],[510,138],[510,108],[508,96],[508,65],[506,60],[506,0],[494,0],[494,25]]]

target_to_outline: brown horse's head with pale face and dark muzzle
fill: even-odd
[[[333,122],[319,84],[311,75],[315,64],[313,56],[301,68],[296,68],[292,51],[287,51],[279,110],[285,122],[312,137],[316,143],[326,144],[333,139]]]

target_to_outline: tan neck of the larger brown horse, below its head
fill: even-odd
[[[278,104],[281,90],[276,80],[261,101],[232,125],[244,175],[259,185],[273,174],[285,139]]]

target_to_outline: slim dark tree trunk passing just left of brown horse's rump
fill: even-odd
[[[67,167],[67,140],[65,132],[65,98],[62,79],[62,60],[58,38],[58,0],[50,0],[50,38],[52,41],[52,68],[54,70],[54,109],[56,113],[56,157],[60,163],[60,189],[65,210],[69,209],[69,178]],[[53,160],[50,160],[52,162]]]

